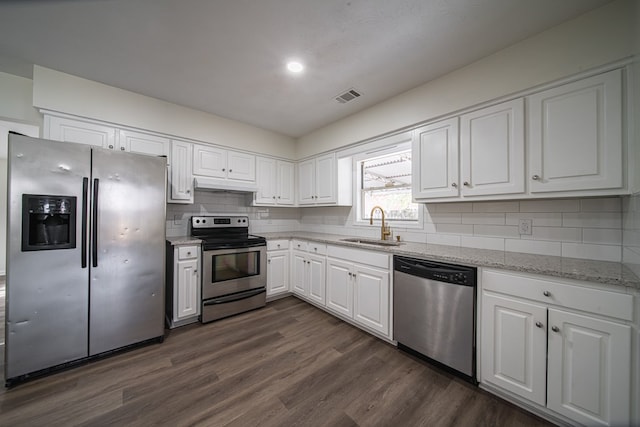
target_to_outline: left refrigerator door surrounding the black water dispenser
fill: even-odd
[[[82,268],[82,145],[9,135],[5,378],[87,356],[89,269]],[[75,197],[75,248],[22,251],[23,194]],[[86,236],[86,234],[85,234]],[[85,260],[86,261],[86,260]]]

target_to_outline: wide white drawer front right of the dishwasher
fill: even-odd
[[[633,320],[633,296],[620,292],[494,270],[483,270],[482,287],[546,304]]]

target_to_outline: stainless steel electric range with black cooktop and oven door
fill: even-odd
[[[264,237],[249,234],[246,216],[193,216],[191,235],[202,240],[203,323],[266,305]]]

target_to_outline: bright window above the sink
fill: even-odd
[[[356,156],[357,221],[371,218],[374,206],[384,209],[385,219],[396,225],[420,224],[420,209],[412,202],[411,148],[400,144],[388,149],[376,150]],[[380,218],[380,211],[374,218]]]

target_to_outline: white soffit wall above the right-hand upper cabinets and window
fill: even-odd
[[[635,0],[618,0],[318,129],[296,157],[363,141],[633,54]]]

